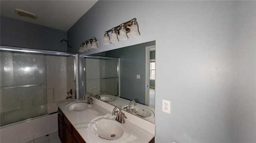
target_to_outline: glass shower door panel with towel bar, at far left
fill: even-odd
[[[0,52],[1,126],[47,114],[45,55]]]

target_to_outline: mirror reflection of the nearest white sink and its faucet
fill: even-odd
[[[129,108],[129,105],[126,105],[124,107],[122,107],[122,110],[128,111],[126,109]],[[135,112],[133,112],[132,114],[140,116],[142,118],[154,118],[154,112],[144,106],[139,106],[139,105],[131,105],[131,109],[133,109]]]

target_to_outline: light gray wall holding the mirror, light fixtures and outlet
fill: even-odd
[[[68,31],[68,50],[92,37],[99,48],[86,55],[156,40],[156,142],[256,142],[255,15],[255,1],[98,1]],[[102,44],[132,18],[140,37]]]

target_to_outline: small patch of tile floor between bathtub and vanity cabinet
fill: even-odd
[[[60,138],[58,136],[58,130],[48,133],[47,135],[43,135],[26,143],[61,143]]]

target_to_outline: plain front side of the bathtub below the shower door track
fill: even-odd
[[[1,143],[24,143],[58,130],[58,113],[6,125],[0,129]]]

